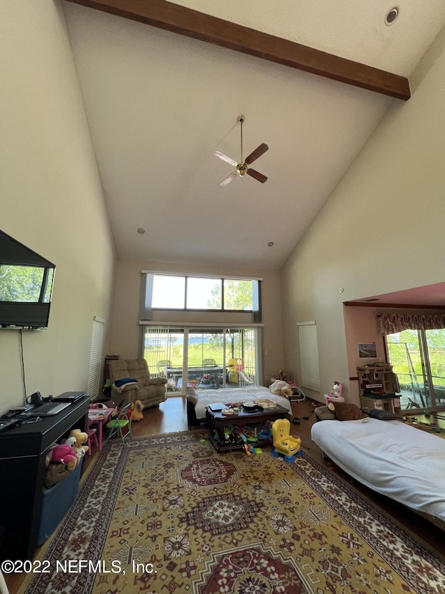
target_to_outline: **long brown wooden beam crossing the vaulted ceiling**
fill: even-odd
[[[250,56],[311,72],[389,97],[408,100],[407,78],[248,29],[166,0],[67,0]]]

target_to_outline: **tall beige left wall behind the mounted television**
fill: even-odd
[[[115,249],[63,10],[15,0],[0,27],[0,226],[56,264],[49,329],[22,333],[26,394],[83,390]],[[0,329],[0,413],[24,401],[19,338]]]

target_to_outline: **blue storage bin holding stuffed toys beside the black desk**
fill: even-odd
[[[42,506],[40,508],[40,527],[37,538],[37,546],[43,545],[44,541],[54,532],[57,525],[70,509],[79,491],[79,480],[81,478],[82,464],[76,468],[60,483],[51,487],[42,494]]]

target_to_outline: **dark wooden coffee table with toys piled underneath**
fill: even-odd
[[[288,409],[277,405],[273,409],[264,409],[261,412],[245,412],[240,410],[238,414],[225,415],[221,412],[217,412],[207,408],[206,411],[207,422],[210,425],[210,441],[215,446],[218,452],[229,452],[232,450],[242,450],[244,444],[226,444],[224,439],[224,430],[227,425],[252,425],[252,427],[258,425],[264,425],[267,421],[275,421],[276,419],[289,419]],[[215,439],[214,433],[218,434],[218,440]],[[268,444],[269,439],[261,440],[258,439],[255,442],[255,446],[264,446]]]

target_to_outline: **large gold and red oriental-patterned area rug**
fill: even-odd
[[[445,565],[307,455],[108,444],[26,594],[445,592]]]

